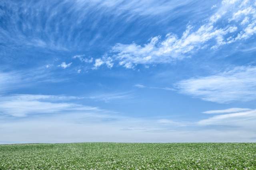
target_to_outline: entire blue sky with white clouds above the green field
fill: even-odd
[[[256,0],[0,0],[0,144],[256,142]]]

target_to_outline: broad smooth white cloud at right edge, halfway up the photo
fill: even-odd
[[[180,93],[202,100],[230,103],[256,99],[256,67],[240,66],[217,75],[190,78],[174,84]]]

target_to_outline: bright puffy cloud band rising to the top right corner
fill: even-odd
[[[244,41],[256,33],[256,8],[248,0],[224,0],[217,12],[198,29],[188,25],[181,37],[168,33],[151,37],[144,45],[117,43],[110,56],[119,65],[134,68],[136,64],[171,63],[191,57],[200,49],[215,50],[223,45]]]

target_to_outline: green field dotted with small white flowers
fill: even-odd
[[[256,143],[0,145],[7,169],[256,169]]]

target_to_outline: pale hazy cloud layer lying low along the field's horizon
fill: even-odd
[[[252,138],[256,136],[253,130],[242,128],[202,129],[204,125],[200,125],[199,130],[192,131],[152,120],[77,113],[0,122],[4,139],[0,143],[255,142]]]

